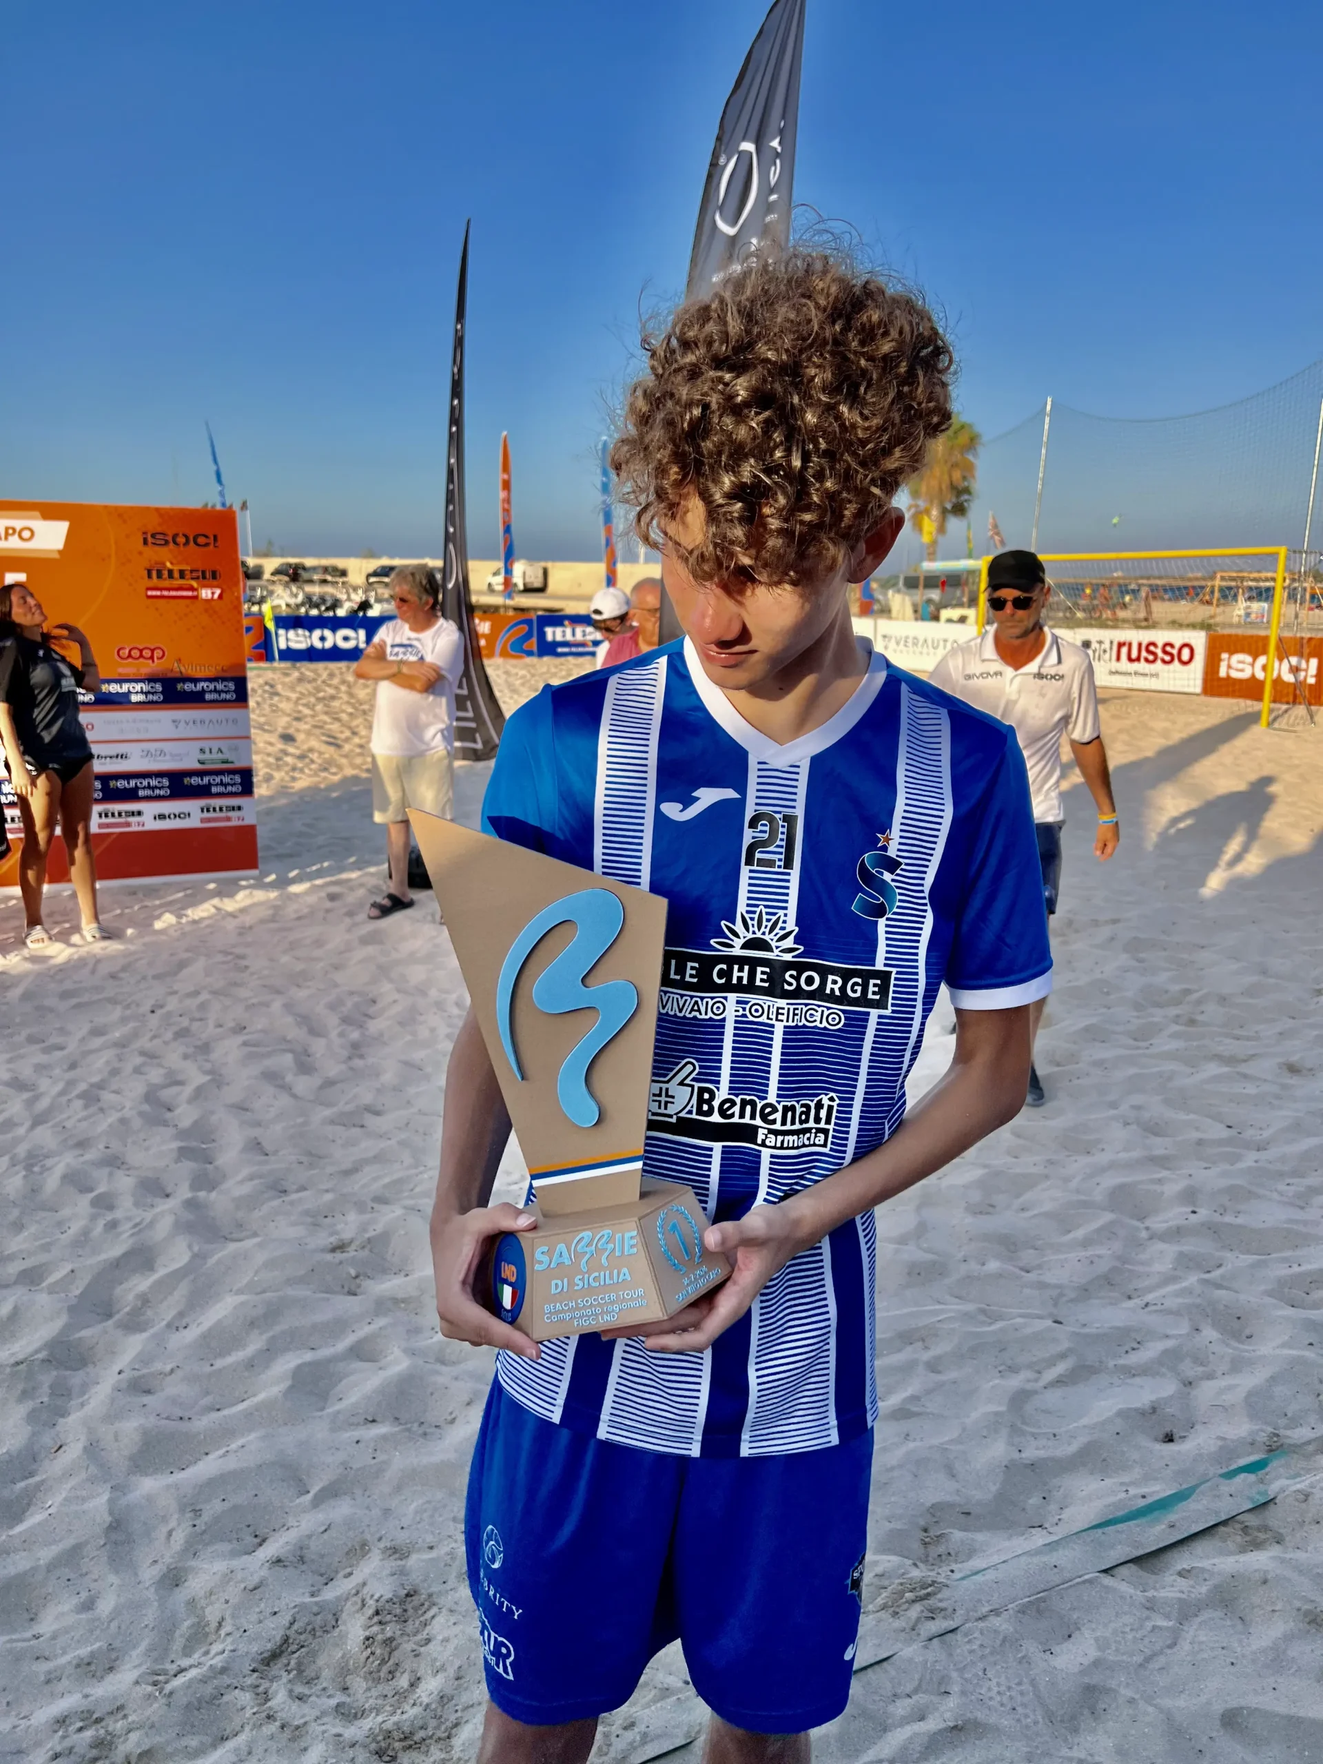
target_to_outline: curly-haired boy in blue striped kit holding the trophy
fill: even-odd
[[[483,1764],[582,1764],[679,1637],[709,1764],[808,1757],[845,1708],[877,1416],[873,1208],[1009,1120],[1050,988],[1014,736],[856,640],[848,584],[951,420],[910,296],[824,254],[729,277],[647,346],[612,464],[686,632],[506,723],[499,838],[667,896],[646,1168],[730,1279],[545,1342],[475,1298],[508,1117],[473,1016],[432,1214],[443,1334],[503,1351],[467,1559]],[[946,979],[951,1071],[905,1118]]]

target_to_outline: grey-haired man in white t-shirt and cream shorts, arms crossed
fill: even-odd
[[[453,808],[455,686],[464,639],[441,617],[441,584],[413,563],[390,579],[395,617],[367,646],[356,679],[376,681],[372,714],[372,820],[386,829],[390,886],[367,908],[388,919],[413,907],[409,893],[411,808],[445,815]]]

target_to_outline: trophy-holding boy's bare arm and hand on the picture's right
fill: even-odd
[[[956,1011],[956,1051],[940,1083],[875,1152],[778,1205],[707,1226],[704,1244],[734,1258],[730,1279],[663,1323],[603,1330],[646,1335],[656,1353],[700,1353],[753,1304],[767,1281],[838,1224],[903,1194],[1025,1106],[1028,1005]]]

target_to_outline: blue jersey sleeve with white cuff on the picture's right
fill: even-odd
[[[1051,991],[1043,864],[1025,759],[1005,730],[1002,757],[970,810],[974,836],[946,983],[961,1011],[1009,1011]]]

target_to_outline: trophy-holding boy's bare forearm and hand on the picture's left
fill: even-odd
[[[469,1009],[446,1067],[441,1122],[441,1171],[432,1201],[432,1275],[441,1334],[475,1348],[510,1348],[529,1360],[538,1346],[485,1311],[473,1281],[494,1237],[531,1231],[519,1207],[489,1207],[492,1182],[510,1138],[510,1115],[496,1081],[478,1021]]]

